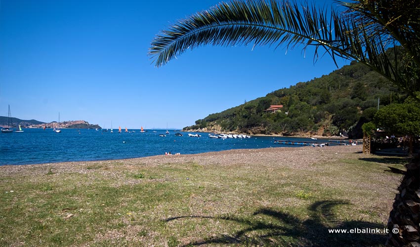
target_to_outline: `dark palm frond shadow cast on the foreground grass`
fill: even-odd
[[[329,229],[383,229],[367,221],[336,222],[333,207],[347,205],[343,201],[319,201],[309,206],[310,215],[300,220],[293,214],[273,208],[260,208],[250,217],[177,216],[166,222],[182,218],[210,218],[236,222],[243,229],[231,235],[219,234],[184,246],[245,245],[245,246],[382,246],[386,236],[379,233],[329,233]],[[270,220],[261,221],[261,217]],[[294,240],[292,240],[294,239]],[[291,243],[292,242],[292,243]]]

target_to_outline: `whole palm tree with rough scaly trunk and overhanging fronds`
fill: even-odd
[[[304,49],[313,46],[315,61],[324,54],[329,54],[334,61],[337,57],[354,59],[420,102],[416,94],[420,91],[420,1],[337,2],[346,9],[345,12],[338,13],[334,9],[327,11],[309,5],[299,6],[288,0],[222,2],[162,31],[152,41],[149,54],[157,66],[162,66],[185,50],[205,44],[268,44],[287,48],[303,45]],[[398,53],[395,48],[388,49],[397,45],[402,47],[402,53]],[[414,164],[413,167],[418,170],[418,160]],[[407,174],[412,174],[411,168]],[[404,191],[419,190],[417,183],[404,186],[411,186],[403,188]],[[407,193],[404,194],[407,196]],[[410,200],[415,198],[416,195],[410,196]],[[402,204],[404,200],[402,198]],[[416,200],[420,202],[419,197]],[[405,208],[410,210],[411,207]],[[398,209],[398,205],[394,204],[393,211]],[[408,245],[420,241],[419,238],[409,238],[420,235],[419,212],[411,223],[405,220],[406,214],[403,212],[398,217],[391,217],[389,224],[395,224],[401,229],[398,236],[390,233],[388,244]],[[411,228],[403,227],[409,224],[412,224]]]

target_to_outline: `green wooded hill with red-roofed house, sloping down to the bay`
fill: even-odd
[[[375,71],[353,61],[321,78],[298,82],[210,114],[184,130],[299,136],[347,132],[350,138],[361,138],[361,125],[372,120],[378,98],[379,107],[383,107],[391,102],[403,103],[407,95]],[[264,112],[270,105],[283,108],[276,113]]]

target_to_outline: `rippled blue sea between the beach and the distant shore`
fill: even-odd
[[[28,165],[70,161],[96,161],[138,158],[172,154],[197,154],[229,149],[254,149],[267,147],[296,147],[274,144],[280,137],[253,136],[248,139],[211,139],[208,133],[202,137],[175,136],[170,130],[135,133],[114,130],[114,133],[95,129],[24,129],[22,133],[0,133],[0,165]],[[310,140],[307,138],[281,137],[282,140]]]

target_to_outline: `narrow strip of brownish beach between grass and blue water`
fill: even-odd
[[[124,160],[104,161],[80,161],[44,163],[34,165],[1,165],[0,176],[7,176],[13,173],[45,173],[45,170],[53,168],[55,172],[66,172],[69,170],[88,167],[91,165],[141,165],[155,166],[164,164],[197,163],[199,165],[235,165],[252,164],[267,165],[278,164],[293,167],[306,167],[316,162],[328,162],[348,155],[359,155],[362,145],[357,146],[329,146],[329,147],[278,147],[264,149],[232,149],[218,152],[188,155],[158,155],[142,158]]]

